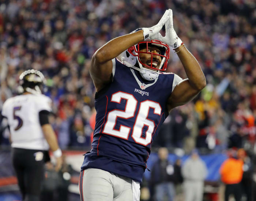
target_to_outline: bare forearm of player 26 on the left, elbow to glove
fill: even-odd
[[[99,48],[95,54],[96,60],[99,63],[105,63],[143,40],[143,30],[114,38]]]

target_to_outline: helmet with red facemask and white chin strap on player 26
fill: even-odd
[[[161,53],[157,54],[157,53],[150,52],[148,47],[157,47],[161,51]],[[146,51],[141,51],[144,49],[146,49]],[[151,55],[150,66],[146,63],[142,63],[142,61],[140,60],[141,53]],[[159,71],[166,70],[167,62],[169,60],[169,53],[170,53],[170,48],[167,44],[159,40],[146,40],[130,47],[127,51],[124,51],[121,54],[121,62],[128,67],[138,70],[144,79],[150,81],[150,80],[155,80],[158,77]],[[158,65],[159,66],[158,68],[153,66],[153,60],[154,60],[153,55],[160,56],[162,59],[161,63]]]

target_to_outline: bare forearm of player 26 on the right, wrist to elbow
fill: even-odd
[[[176,48],[175,51],[180,58],[191,86],[196,90],[202,90],[206,85],[206,79],[196,58],[186,47],[184,47],[184,45]]]

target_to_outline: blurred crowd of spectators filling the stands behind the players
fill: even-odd
[[[50,122],[60,147],[89,150],[95,124],[91,56],[117,36],[157,24],[168,8],[207,86],[191,103],[170,113],[153,142],[153,153],[159,147],[180,157],[195,149],[204,155],[241,148],[242,159],[254,172],[254,0],[0,0],[0,110],[18,93],[20,73],[40,70],[47,79],[46,95],[53,101]],[[167,72],[186,78],[173,52]],[[1,147],[9,146],[6,127],[3,120]]]

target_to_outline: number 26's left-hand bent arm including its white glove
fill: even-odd
[[[112,79],[112,59],[116,58],[129,47],[142,42],[145,39],[153,40],[158,37],[159,31],[167,21],[169,10],[166,10],[159,23],[151,28],[130,33],[110,40],[99,48],[91,59],[90,75],[93,79],[96,91],[101,90]]]

